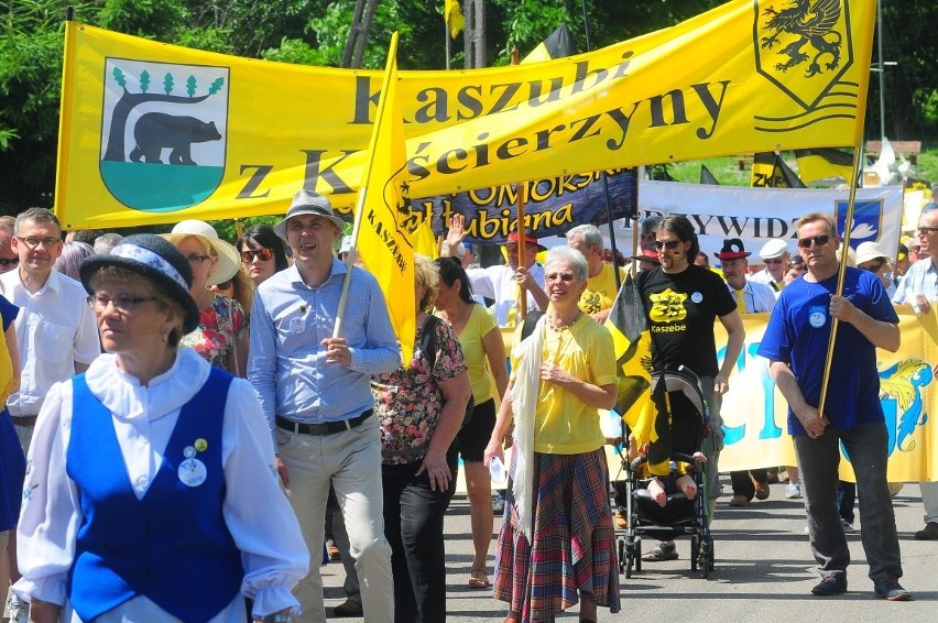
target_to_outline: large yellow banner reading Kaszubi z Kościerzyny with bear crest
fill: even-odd
[[[588,54],[401,72],[411,196],[857,144],[874,7],[735,0]],[[67,229],[282,214],[305,187],[349,214],[381,78],[68,23],[56,211]]]

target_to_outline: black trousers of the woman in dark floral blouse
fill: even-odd
[[[455,446],[455,445],[454,445]],[[384,534],[391,544],[395,623],[446,621],[446,550],[443,518],[456,492],[457,448],[446,459],[452,478],[446,491],[433,491],[423,461],[385,464]]]

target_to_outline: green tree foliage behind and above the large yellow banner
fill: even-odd
[[[782,2],[784,0],[779,0]],[[591,48],[667,28],[722,0],[589,0]],[[0,212],[50,206],[55,184],[65,7],[77,21],[109,30],[239,56],[338,66],[355,0],[14,0],[0,2]],[[384,66],[400,32],[402,69],[443,69],[441,0],[380,0],[362,65]],[[887,133],[894,139],[938,135],[938,39],[934,0],[882,0],[887,67]],[[487,57],[505,65],[560,23],[586,52],[582,0],[487,0]],[[461,36],[452,50],[461,51]],[[706,53],[706,51],[701,51]],[[461,52],[454,52],[458,66]],[[165,90],[150,76],[141,90]],[[182,83],[181,83],[182,84]],[[870,89],[868,132],[879,133],[879,85]],[[875,123],[875,124],[873,124]],[[872,125],[871,125],[872,124]]]

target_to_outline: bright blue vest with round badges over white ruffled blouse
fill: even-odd
[[[238,594],[244,570],[221,516],[221,427],[231,379],[211,369],[183,406],[155,478],[138,500],[110,412],[91,394],[84,374],[74,378],[66,471],[78,489],[85,521],[68,598],[84,621],[141,594],[183,621],[207,621]],[[184,452],[195,455],[195,461],[186,462]]]

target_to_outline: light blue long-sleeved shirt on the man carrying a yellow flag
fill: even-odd
[[[349,367],[326,363],[321,341],[332,336],[346,265],[332,270],[319,287],[306,285],[296,266],[262,283],[251,308],[248,380],[264,416],[323,424],[349,419],[374,406],[371,375],[401,365],[401,348],[391,326],[384,295],[370,273],[353,269],[343,337]]]

